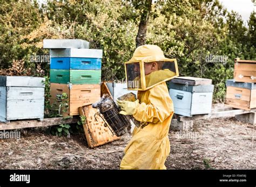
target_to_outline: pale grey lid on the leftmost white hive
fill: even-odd
[[[45,78],[29,76],[0,76],[1,87],[45,87]]]

